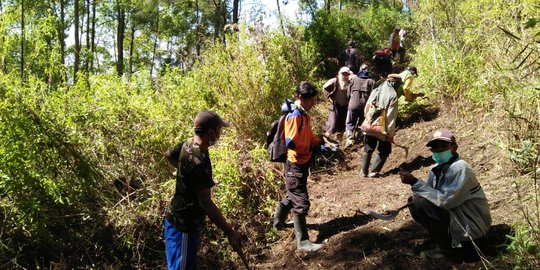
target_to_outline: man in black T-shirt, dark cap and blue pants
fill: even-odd
[[[208,147],[216,143],[221,128],[228,127],[214,111],[202,111],[194,120],[193,138],[165,152],[177,168],[176,189],[164,220],[165,253],[169,269],[195,269],[197,249],[206,216],[229,239],[235,250],[241,249],[241,236],[227,223],[211,198],[214,186]]]

